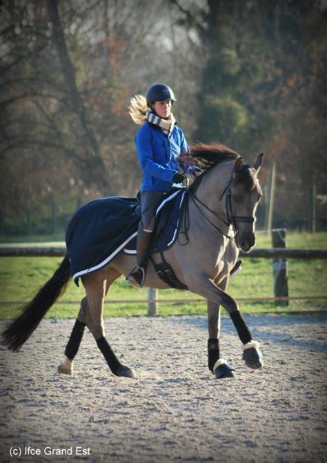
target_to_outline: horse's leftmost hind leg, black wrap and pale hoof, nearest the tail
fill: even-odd
[[[73,361],[75,359],[75,356],[77,355],[77,351],[79,350],[85,327],[88,324],[87,317],[88,301],[86,297],[83,297],[83,299],[81,300],[81,308],[79,309],[79,315],[77,315],[75,325],[72,328],[72,333],[70,334],[70,338],[65,349],[65,359],[58,366],[58,373],[62,373],[64,375],[72,375]]]

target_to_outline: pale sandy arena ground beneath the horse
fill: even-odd
[[[43,320],[19,353],[0,351],[0,462],[326,462],[327,313],[245,318],[265,366],[245,366],[222,317],[237,379],[219,381],[206,317],[106,319],[135,380],[108,371],[89,332],[59,375],[74,320]]]

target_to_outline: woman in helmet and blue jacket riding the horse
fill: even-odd
[[[137,233],[137,266],[128,275],[128,282],[143,286],[155,225],[155,212],[162,195],[172,184],[181,184],[185,174],[179,171],[177,156],[188,151],[184,133],[172,115],[174,92],[165,83],[155,83],[146,92],[146,99],[136,95],[130,101],[129,113],[136,124],[142,124],[135,143],[143,180],[140,189],[141,221]],[[183,168],[183,166],[181,166]]]

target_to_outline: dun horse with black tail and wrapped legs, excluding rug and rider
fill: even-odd
[[[219,345],[221,306],[235,326],[246,366],[252,369],[263,366],[259,342],[253,339],[235,299],[226,293],[239,250],[247,253],[255,245],[255,213],[262,195],[257,174],[263,153],[257,156],[253,166],[245,164],[243,157],[222,144],[195,144],[185,156],[200,169],[197,178],[186,189],[184,217],[181,218],[185,230],[179,230],[179,233],[184,233],[187,239],[186,242],[177,239],[164,251],[164,256],[179,282],[207,300],[210,372],[218,380],[234,378],[235,370],[221,355]],[[150,258],[145,286],[170,288],[155,272],[154,264],[159,256],[152,253]],[[86,295],[81,300],[65,358],[58,367],[59,373],[72,374],[73,362],[87,326],[110,371],[119,377],[135,376],[132,368],[121,364],[112,351],[103,325],[103,302],[110,286],[121,275],[126,277],[135,264],[135,255],[119,252],[102,268],[81,277]],[[66,290],[70,279],[70,258],[66,254],[54,275],[5,328],[2,344],[18,351]]]

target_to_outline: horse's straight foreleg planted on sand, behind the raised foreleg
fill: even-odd
[[[227,280],[227,279],[226,279]],[[227,281],[224,281],[226,288]],[[219,337],[220,337],[220,305],[208,301],[208,367],[215,374],[217,379],[236,377],[234,370],[221,357]]]

